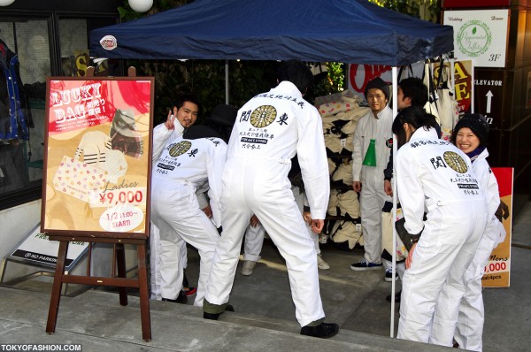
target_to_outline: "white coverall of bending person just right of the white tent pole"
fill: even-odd
[[[402,278],[397,337],[428,342],[435,333],[435,309],[453,310],[449,316],[457,317],[466,268],[486,223],[485,197],[470,159],[437,139],[434,128],[417,129],[398,149],[396,181],[406,230],[422,231]],[[443,306],[437,298],[444,294],[448,299]]]

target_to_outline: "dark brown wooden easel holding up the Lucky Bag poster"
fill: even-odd
[[[129,77],[135,77],[135,67],[129,67]],[[89,67],[87,76],[94,76],[94,67]],[[51,288],[50,309],[48,310],[48,321],[46,323],[46,333],[55,333],[58,320],[59,302],[63,284],[81,284],[92,286],[119,287],[119,304],[127,305],[127,288],[137,287],[140,291],[140,315],[142,320],[142,340],[151,341],[151,320],[150,320],[150,299],[148,293],[148,276],[146,269],[146,244],[147,235],[144,233],[65,233],[49,232],[50,241],[59,241],[58,261]],[[90,256],[87,265],[87,275],[65,275],[65,258],[70,241],[86,241],[96,243],[113,243],[114,256],[111,277],[92,277],[90,275]],[[127,279],[126,277],[126,256],[125,244],[135,245],[138,254],[138,278]],[[90,248],[90,246],[89,246]],[[114,266],[116,264],[116,267]],[[116,269],[116,270],[115,270]],[[118,275],[115,275],[115,274]]]

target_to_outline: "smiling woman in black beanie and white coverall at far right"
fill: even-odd
[[[490,170],[487,157],[487,138],[489,136],[489,123],[480,114],[466,114],[458,120],[452,134],[452,142],[470,157],[472,169],[478,178],[480,188],[487,201],[487,226],[481,236],[478,249],[473,256],[472,263],[466,269],[466,291],[459,306],[456,330],[453,332],[450,322],[456,317],[447,317],[447,310],[436,310],[434,325],[441,325],[437,329],[440,333],[432,337],[438,344],[450,346],[454,338],[459,348],[472,351],[481,351],[483,323],[485,312],[483,310],[483,296],[481,295],[481,278],[485,265],[489,263],[492,249],[504,241],[505,230],[503,224],[496,218],[496,210],[500,204],[500,195],[496,177]],[[441,297],[443,302],[446,297]],[[445,333],[444,333],[445,332]],[[435,340],[437,339],[437,340]]]

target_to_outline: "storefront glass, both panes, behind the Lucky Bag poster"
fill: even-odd
[[[46,77],[119,70],[89,57],[89,31],[115,17],[37,16],[0,15],[0,210],[41,197]]]

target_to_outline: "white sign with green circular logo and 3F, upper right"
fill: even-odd
[[[454,28],[454,57],[473,59],[475,67],[504,67],[509,10],[444,11],[443,24]]]

